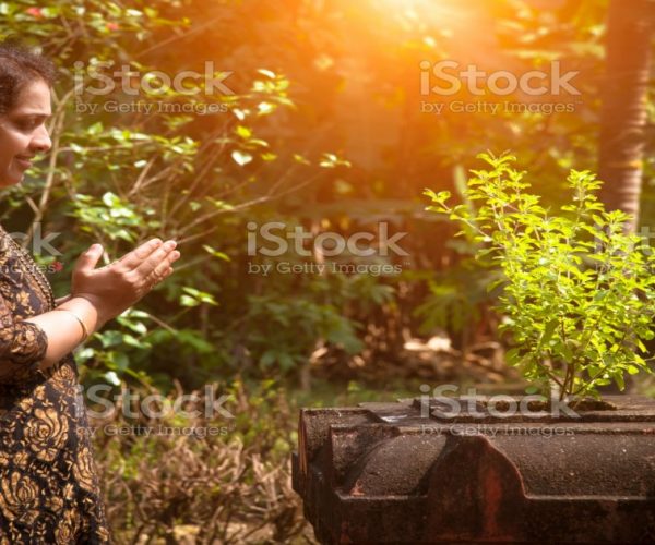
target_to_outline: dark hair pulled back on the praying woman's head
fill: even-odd
[[[25,85],[37,80],[55,83],[52,62],[15,43],[0,44],[0,116],[10,111]]]

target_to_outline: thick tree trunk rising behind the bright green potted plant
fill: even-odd
[[[653,0],[611,0],[607,28],[606,81],[600,118],[600,199],[639,221],[651,68]]]

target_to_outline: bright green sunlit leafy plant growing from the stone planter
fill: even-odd
[[[595,193],[602,182],[572,170],[572,204],[559,214],[527,192],[514,157],[481,154],[491,168],[474,170],[466,197],[477,205],[450,206],[449,192],[434,193],[430,210],[464,226],[479,244],[477,257],[497,263],[504,278],[499,310],[502,330],[516,347],[508,361],[560,397],[598,396],[626,373],[648,372],[644,340],[652,339],[655,257],[647,241],[624,232],[629,216],[607,211]]]

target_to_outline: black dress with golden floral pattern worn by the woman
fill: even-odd
[[[41,372],[52,308],[32,257],[0,228],[0,545],[105,544],[109,532],[72,355]]]

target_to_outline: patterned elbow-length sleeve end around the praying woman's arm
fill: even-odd
[[[48,337],[37,326],[15,317],[0,295],[0,383],[36,376],[48,349]]]

